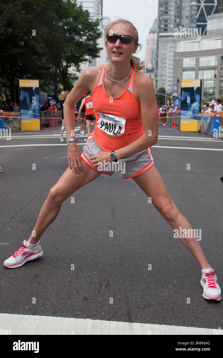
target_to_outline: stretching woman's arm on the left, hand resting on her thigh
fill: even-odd
[[[72,88],[69,96],[66,98],[63,106],[64,122],[67,132],[67,138],[74,138],[74,121],[75,121],[75,105],[83,97],[89,89],[89,77],[92,76],[92,69],[87,68],[78,78],[76,85]],[[68,142],[68,163],[69,168],[73,173],[80,174],[80,169],[83,171],[81,164],[81,152],[78,149],[76,142]],[[74,165],[71,166],[71,163]]]

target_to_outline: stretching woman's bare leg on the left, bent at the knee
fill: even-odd
[[[83,160],[82,165],[84,171],[81,171],[80,175],[74,175],[73,171],[67,168],[62,176],[60,176],[58,182],[50,189],[33,228],[36,236],[33,237],[31,234],[28,239],[30,244],[38,242],[44,231],[54,222],[64,200],[69,198],[76,190],[92,182],[92,180],[102,174],[100,171],[92,169],[89,165],[84,163]]]

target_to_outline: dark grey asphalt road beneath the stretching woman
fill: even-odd
[[[223,327],[222,301],[203,299],[197,261],[134,180],[119,173],[100,175],[73,194],[74,204],[69,198],[62,204],[41,238],[41,258],[18,269],[3,266],[29,237],[49,189],[68,166],[58,134],[0,139],[0,312]],[[156,168],[180,212],[202,229],[200,244],[222,286],[223,152],[198,148],[223,149],[223,140],[164,128],[159,135],[151,148]]]

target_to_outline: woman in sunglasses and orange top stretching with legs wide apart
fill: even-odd
[[[220,301],[215,271],[196,236],[183,235],[185,231],[193,232],[192,226],[170,198],[154,165],[150,147],[158,137],[157,103],[151,79],[140,72],[140,59],[132,55],[141,48],[138,41],[137,30],[129,21],[118,19],[108,24],[105,46],[109,62],[87,68],[64,103],[69,167],[49,191],[33,229],[35,237],[31,233],[4,265],[20,267],[42,256],[40,237],[57,217],[64,200],[102,173],[111,176],[118,170],[151,198],[157,211],[178,232],[176,237],[197,260],[202,271],[203,297]],[[80,153],[74,138],[73,112],[75,103],[88,90],[92,92],[97,124]],[[121,166],[125,170],[121,171]]]

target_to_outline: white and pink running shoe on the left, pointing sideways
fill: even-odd
[[[36,246],[31,247],[26,240],[24,240],[23,245],[19,248],[19,250],[5,260],[3,265],[9,269],[15,269],[16,267],[24,265],[27,261],[34,260],[42,255],[43,250],[40,242]]]

